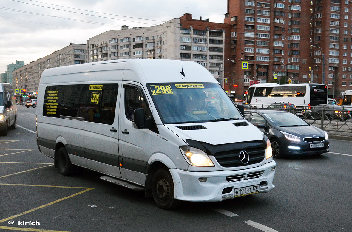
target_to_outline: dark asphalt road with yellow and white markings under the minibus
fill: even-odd
[[[331,139],[321,156],[276,159],[269,193],[165,211],[99,173],[62,176],[38,151],[36,109],[18,108],[18,127],[0,137],[1,232],[352,231],[351,142]]]

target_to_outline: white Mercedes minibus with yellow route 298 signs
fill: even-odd
[[[37,107],[38,148],[63,175],[98,171],[163,209],[275,187],[268,138],[195,62],[119,59],[46,69]]]

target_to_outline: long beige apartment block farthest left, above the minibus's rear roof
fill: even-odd
[[[86,52],[86,44],[71,43],[48,56],[32,61],[12,71],[13,88],[36,92],[45,69],[85,63]]]

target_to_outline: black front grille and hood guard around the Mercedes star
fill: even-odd
[[[258,164],[265,159],[266,142],[264,139],[215,145],[192,139],[186,139],[186,142],[188,145],[199,148],[210,156],[214,156],[216,161],[224,168]],[[249,161],[247,163],[240,161],[239,155],[241,151],[248,153]]]

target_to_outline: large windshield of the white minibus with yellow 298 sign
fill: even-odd
[[[164,124],[243,119],[218,83],[149,83]]]

